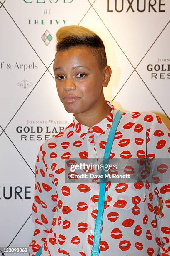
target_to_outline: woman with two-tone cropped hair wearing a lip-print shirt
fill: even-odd
[[[118,110],[103,94],[111,68],[107,65],[104,44],[94,32],[82,26],[62,27],[57,31],[56,50],[56,88],[65,110],[73,113],[73,121],[40,146],[32,205],[35,231],[29,255],[35,255],[44,245],[43,256],[90,256],[99,182],[96,179],[69,182],[66,167],[72,158],[92,159],[92,162],[103,159]],[[134,179],[107,181],[100,256],[170,255],[168,184],[165,179],[158,182],[169,169],[159,172],[158,162],[153,164],[153,159],[160,159],[159,165],[164,167],[167,164],[168,135],[167,127],[154,113],[122,115],[110,159],[123,159],[126,165],[127,159],[147,158],[154,182],[148,181],[146,175],[142,186]],[[132,169],[126,169],[125,173],[132,173]],[[148,169],[142,173],[147,174]],[[162,214],[159,199],[163,202]]]

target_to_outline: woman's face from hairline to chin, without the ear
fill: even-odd
[[[68,113],[82,113],[101,102],[103,72],[87,46],[58,51],[54,75],[58,96]],[[68,101],[67,95],[77,98]]]

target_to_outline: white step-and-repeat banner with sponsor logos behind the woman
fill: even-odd
[[[0,0],[0,247],[28,247],[38,150],[73,120],[53,74],[55,34],[66,25],[102,38],[106,100],[170,128],[169,0]]]

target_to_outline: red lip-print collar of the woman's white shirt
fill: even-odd
[[[84,139],[87,133],[96,133],[96,135],[98,136],[99,134],[105,133],[105,131],[111,127],[116,112],[112,103],[108,100],[106,100],[106,102],[107,105],[112,108],[110,114],[93,126],[86,126],[82,123],[79,123],[75,119],[75,114],[73,114],[72,127],[74,128],[75,132],[80,136],[80,138]]]

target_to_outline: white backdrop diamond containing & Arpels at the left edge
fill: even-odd
[[[32,50],[28,41],[25,40],[23,34],[20,33],[2,6],[0,8],[0,24],[3,24],[4,20],[5,26],[0,26],[0,34],[3,35],[0,48],[4,49],[1,51],[3,87],[0,88],[0,93],[3,95],[0,100],[0,116],[3,128],[13,118],[46,71],[40,58]],[[24,80],[27,80],[32,86],[21,90],[21,87],[24,87],[21,82]]]

